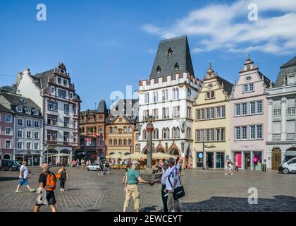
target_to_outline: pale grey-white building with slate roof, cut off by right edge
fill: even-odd
[[[296,57],[280,67],[276,84],[269,89],[267,99],[269,102],[267,167],[278,169],[280,163],[296,157]]]

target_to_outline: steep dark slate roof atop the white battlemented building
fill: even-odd
[[[168,56],[168,49],[170,48],[173,50],[173,54]],[[166,77],[174,72],[178,72],[175,71],[175,63],[178,63],[179,71],[188,71],[193,76],[195,75],[186,35],[159,42],[149,78]],[[161,73],[156,73],[158,66],[161,68]]]

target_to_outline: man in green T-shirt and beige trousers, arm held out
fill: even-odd
[[[126,172],[126,177],[125,177],[125,201],[124,201],[124,206],[123,206],[123,212],[126,212],[126,209],[130,205],[130,199],[133,198],[134,200],[134,206],[135,206],[135,211],[139,212],[140,211],[140,191],[137,187],[137,184],[143,183],[143,184],[150,184],[153,185],[152,182],[147,182],[144,179],[142,179],[137,172],[137,168],[139,167],[140,163],[138,161],[133,161],[132,162],[132,167],[128,169]]]

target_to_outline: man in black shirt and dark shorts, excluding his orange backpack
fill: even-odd
[[[54,175],[52,172],[49,171],[49,165],[47,163],[42,164],[42,174],[39,176],[39,188],[37,189],[37,193],[42,195],[42,192],[46,192],[46,198],[47,203],[49,204],[49,207],[51,208],[51,212],[56,212],[56,197],[54,196],[54,191],[46,191],[45,185],[47,184],[47,176],[49,174]],[[56,176],[54,175],[56,178]],[[39,212],[40,206],[44,206],[44,201],[42,198],[39,198],[38,201],[36,201],[34,206],[34,212]]]

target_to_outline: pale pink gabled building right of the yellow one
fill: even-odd
[[[268,131],[268,94],[272,83],[254,65],[245,61],[230,96],[230,149],[240,169],[261,170],[266,163]]]

